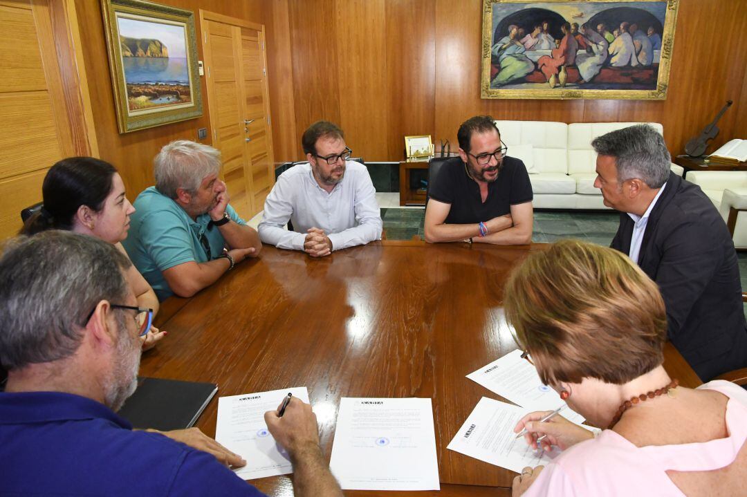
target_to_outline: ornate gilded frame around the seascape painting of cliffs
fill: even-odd
[[[194,13],[190,10],[168,7],[145,0],[101,0],[106,45],[111,70],[111,85],[117,107],[117,125],[120,133],[153,128],[172,122],[195,119],[202,116],[202,89],[197,66],[197,37]],[[130,17],[143,22],[183,26],[185,29],[185,52],[190,99],[188,102],[167,104],[163,107],[131,109],[128,103],[127,82],[122,55],[118,16]],[[182,85],[184,86],[184,85]]]

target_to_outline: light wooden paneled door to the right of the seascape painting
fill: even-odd
[[[231,204],[249,219],[275,181],[264,26],[205,10],[200,21],[213,146]]]

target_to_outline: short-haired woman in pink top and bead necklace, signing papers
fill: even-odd
[[[519,496],[744,495],[747,391],[678,387],[662,366],[659,290],[624,254],[574,240],[535,252],[506,284],[518,343],[568,406],[604,431],[547,412],[515,427],[562,452],[514,479]]]

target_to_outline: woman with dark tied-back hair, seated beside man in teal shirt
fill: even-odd
[[[120,242],[127,237],[134,207],[125,196],[122,178],[110,163],[93,157],[63,159],[47,172],[42,196],[43,206],[25,222],[21,234],[75,231],[111,243],[127,255]],[[158,298],[135,266],[130,266],[127,278],[137,307],[158,313]],[[151,327],[143,337],[143,350],[155,346],[166,334]]]

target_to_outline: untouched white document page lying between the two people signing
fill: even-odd
[[[329,468],[344,490],[441,490],[430,398],[341,398]]]

